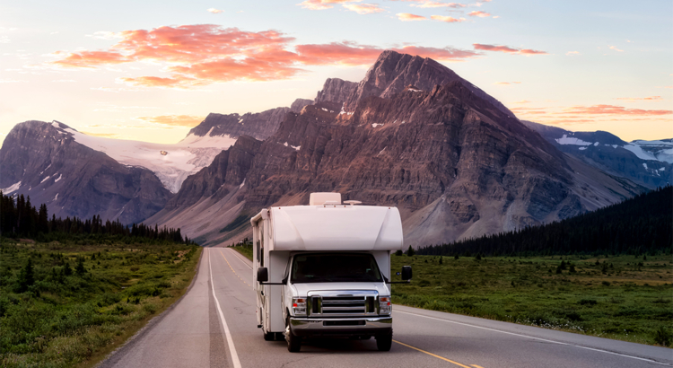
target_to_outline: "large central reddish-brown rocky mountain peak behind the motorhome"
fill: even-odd
[[[323,88],[266,140],[240,139],[148,223],[227,242],[249,236],[240,219],[260,208],[338,191],[398,206],[406,244],[418,246],[549,223],[645,190],[559,151],[457,75],[426,89],[454,74],[430,59],[384,52],[349,95],[350,111],[324,97],[342,95],[325,92],[338,88]],[[409,85],[394,93],[397,83]],[[232,160],[236,151],[244,159]]]

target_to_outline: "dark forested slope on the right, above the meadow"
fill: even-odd
[[[673,187],[560,222],[420,247],[435,256],[645,254],[673,250]]]

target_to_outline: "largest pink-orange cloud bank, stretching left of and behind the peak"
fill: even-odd
[[[164,75],[125,75],[118,82],[143,87],[195,88],[229,81],[271,81],[306,72],[304,66],[366,66],[385,48],[342,41],[292,45],[280,31],[241,31],[213,24],[122,31],[107,50],[55,52],[50,66],[102,68],[138,62],[163,66]],[[474,50],[406,46],[398,52],[460,61],[478,57]]]

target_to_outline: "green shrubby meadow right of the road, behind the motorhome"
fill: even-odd
[[[673,259],[668,255],[441,260],[392,256],[393,273],[404,265],[414,270],[410,285],[393,285],[393,302],[671,346]]]

